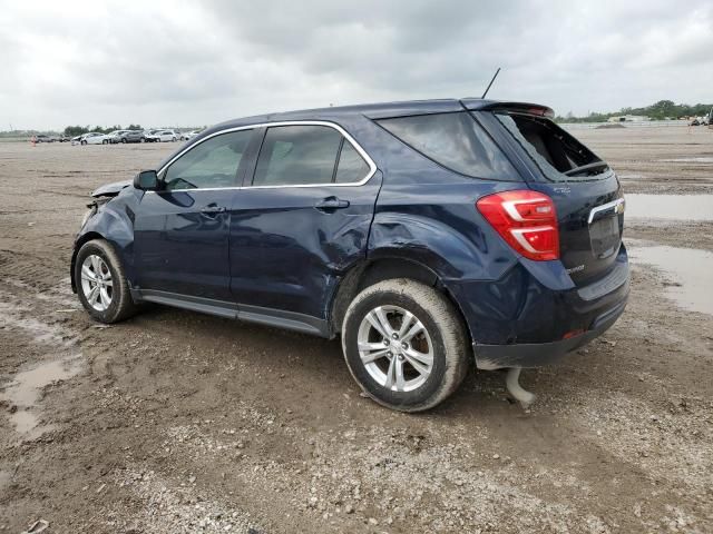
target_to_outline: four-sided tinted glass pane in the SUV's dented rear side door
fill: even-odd
[[[260,149],[253,186],[330,184],[342,135],[329,126],[276,126]]]

